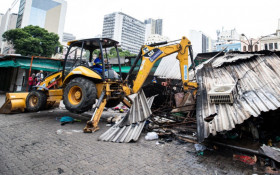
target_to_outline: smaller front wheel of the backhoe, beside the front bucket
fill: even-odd
[[[43,110],[47,103],[47,95],[42,91],[31,91],[26,97],[26,110],[37,112]]]

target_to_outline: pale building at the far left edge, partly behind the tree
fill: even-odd
[[[0,53],[1,54],[12,54],[14,49],[7,43],[3,41],[2,35],[10,29],[16,28],[18,15],[16,13],[11,13],[11,9],[8,9],[5,15],[0,16]]]

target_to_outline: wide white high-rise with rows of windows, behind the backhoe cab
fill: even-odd
[[[123,50],[137,54],[145,40],[145,24],[122,12],[115,12],[104,16],[103,38],[110,38],[120,42]]]

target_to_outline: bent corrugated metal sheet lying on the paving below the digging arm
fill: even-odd
[[[145,126],[146,119],[152,114],[150,108],[154,98],[153,96],[147,100],[143,90],[141,90],[133,99],[129,113],[102,134],[99,140],[120,143],[137,141]]]

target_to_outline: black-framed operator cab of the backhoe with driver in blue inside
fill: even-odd
[[[111,65],[109,65],[109,57],[111,56],[110,52],[114,50],[117,53],[119,72],[121,74],[117,41],[108,38],[91,38],[74,40],[67,44],[69,47],[64,60],[64,77],[66,77],[74,68],[84,66],[95,73],[98,73],[102,79],[121,79],[121,76],[111,68]],[[94,61],[99,55],[100,61]]]

